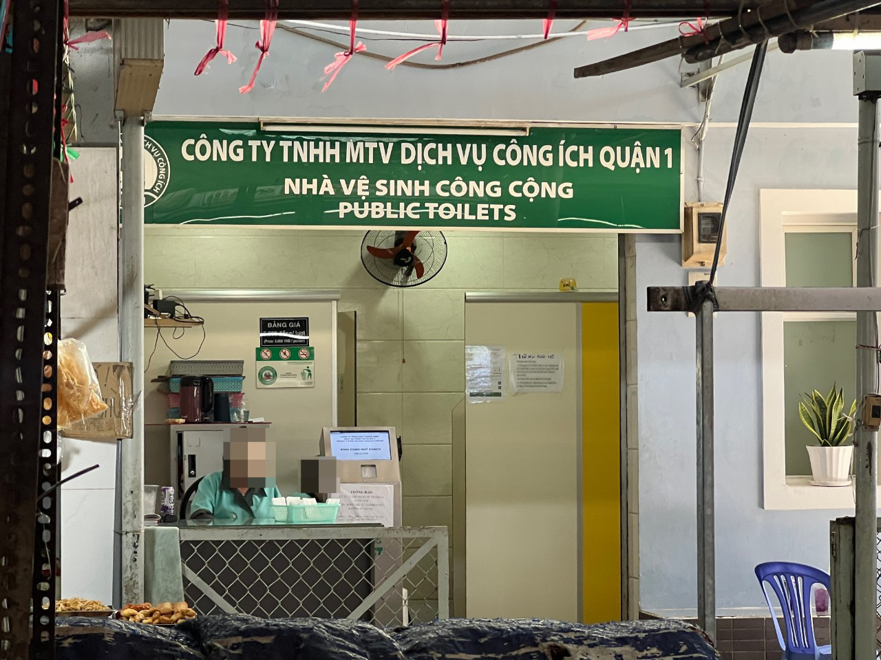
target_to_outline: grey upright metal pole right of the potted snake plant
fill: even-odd
[[[859,54],[862,55],[862,54]],[[875,63],[875,58],[872,58]],[[867,61],[867,68],[870,64]],[[878,92],[859,96],[857,136],[856,286],[877,283]],[[877,346],[877,312],[857,312],[856,343]],[[877,352],[857,350],[856,397],[877,392]],[[854,542],[854,656],[876,655],[877,433],[858,425],[854,436],[856,521]]]

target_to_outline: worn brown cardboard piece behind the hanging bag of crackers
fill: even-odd
[[[132,436],[132,408],[134,396],[131,392],[130,362],[93,363],[98,375],[101,399],[107,410],[83,422],[77,422],[70,429],[62,431],[64,436],[82,440],[118,440]]]

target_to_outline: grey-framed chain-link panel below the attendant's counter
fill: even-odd
[[[446,527],[181,528],[184,592],[197,612],[359,619],[449,618]]]

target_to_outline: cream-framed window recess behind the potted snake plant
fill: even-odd
[[[850,287],[856,280],[852,190],[760,192],[761,286]],[[811,486],[805,445],[816,438],[798,416],[803,392],[833,384],[855,397],[856,315],[763,312],[764,507],[851,509],[851,488]]]

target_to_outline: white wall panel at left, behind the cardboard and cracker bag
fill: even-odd
[[[85,342],[93,362],[119,359],[115,149],[82,149],[71,165],[70,198],[83,204],[70,214],[66,294],[61,337]],[[62,476],[100,466],[62,487],[62,596],[113,596],[116,443],[64,439]]]

